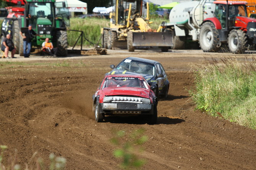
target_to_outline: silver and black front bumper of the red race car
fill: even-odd
[[[152,114],[153,104],[141,103],[100,103],[102,113]]]

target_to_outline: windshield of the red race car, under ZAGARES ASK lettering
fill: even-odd
[[[138,87],[149,89],[147,82],[138,77],[107,77],[102,88],[106,87]]]

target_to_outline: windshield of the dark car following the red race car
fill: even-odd
[[[155,66],[150,63],[143,63],[131,59],[125,59],[118,64],[117,69],[136,72],[139,74],[155,75]]]

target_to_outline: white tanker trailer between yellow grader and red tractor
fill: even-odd
[[[184,49],[188,39],[198,41],[200,27],[204,19],[214,17],[213,0],[179,3],[172,8],[165,32],[173,31],[173,49]]]

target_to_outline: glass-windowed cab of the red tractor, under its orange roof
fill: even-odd
[[[226,29],[226,18],[227,18],[227,1],[217,0],[214,1],[215,17],[219,19],[222,29]],[[245,1],[228,1],[228,28],[236,25],[237,16],[247,17]]]

